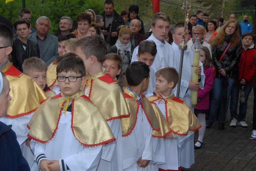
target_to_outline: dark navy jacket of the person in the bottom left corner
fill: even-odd
[[[27,160],[22,156],[12,125],[0,122],[0,168],[11,171],[30,171]]]

